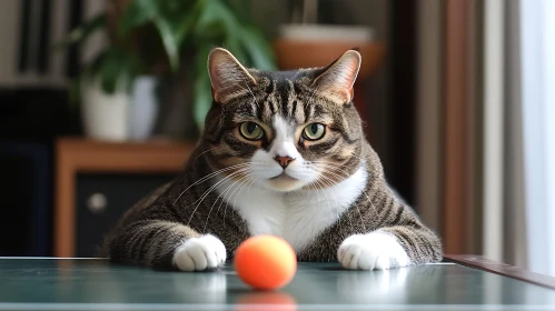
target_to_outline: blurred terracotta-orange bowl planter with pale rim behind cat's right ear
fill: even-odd
[[[337,22],[336,12],[344,1],[289,0],[291,19],[281,24],[274,49],[279,69],[323,67],[356,48],[363,62],[355,83],[354,102],[363,120],[369,120],[364,81],[385,57],[385,46],[376,40],[374,29]],[[325,8],[324,8],[325,7]],[[369,127],[366,134],[370,137]]]

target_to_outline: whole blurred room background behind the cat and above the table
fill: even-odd
[[[2,0],[0,255],[92,257],[185,164],[206,58],[326,66],[448,254],[555,275],[555,1]],[[551,87],[549,87],[551,86]]]

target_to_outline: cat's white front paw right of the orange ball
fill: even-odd
[[[380,231],[348,237],[339,245],[337,259],[351,270],[386,270],[410,264],[397,239]]]

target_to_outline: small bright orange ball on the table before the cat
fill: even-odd
[[[293,280],[297,255],[291,245],[278,237],[256,235],[237,248],[234,265],[245,283],[259,290],[275,290]]]

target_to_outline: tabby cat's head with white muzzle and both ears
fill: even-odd
[[[327,188],[353,174],[365,139],[353,104],[360,61],[349,50],[324,68],[262,72],[214,49],[208,163],[275,191]]]

